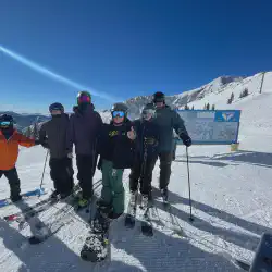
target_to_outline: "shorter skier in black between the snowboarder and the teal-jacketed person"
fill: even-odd
[[[153,122],[156,108],[147,104],[141,112],[141,119],[134,122],[137,134],[137,151],[129,175],[131,201],[135,201],[140,184],[143,206],[147,207],[151,197],[152,172],[159,153],[159,126]]]

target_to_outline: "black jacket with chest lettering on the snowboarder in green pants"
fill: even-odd
[[[100,159],[111,161],[114,169],[131,169],[133,165],[136,140],[127,137],[132,124],[131,121],[121,126],[103,124],[98,150]]]

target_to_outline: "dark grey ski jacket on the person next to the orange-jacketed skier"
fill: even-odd
[[[69,115],[63,113],[60,116],[53,116],[50,121],[44,123],[39,129],[39,141],[50,151],[50,157],[62,159],[72,152],[72,148],[66,148],[66,137],[69,132]]]

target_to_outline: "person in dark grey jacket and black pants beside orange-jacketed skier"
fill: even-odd
[[[51,197],[60,195],[64,198],[74,187],[72,158],[69,158],[72,149],[66,149],[69,115],[64,113],[64,107],[58,102],[50,104],[49,112],[52,119],[41,125],[39,140],[50,151],[50,176],[54,185]]]

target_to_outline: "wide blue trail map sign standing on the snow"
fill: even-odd
[[[240,119],[239,110],[177,110],[177,113],[184,120],[193,144],[237,144]]]

